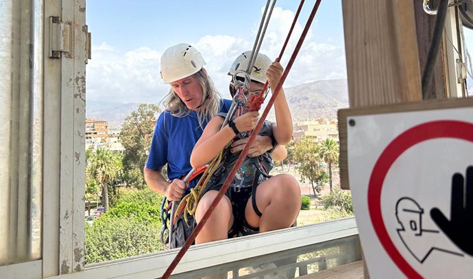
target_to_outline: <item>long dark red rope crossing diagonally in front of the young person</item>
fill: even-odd
[[[267,114],[269,113],[269,110],[271,109],[271,106],[273,106],[274,99],[278,97],[278,93],[282,88],[282,84],[284,83],[284,80],[286,80],[287,74],[291,70],[291,67],[294,63],[295,57],[298,55],[300,47],[302,45],[302,42],[304,42],[304,38],[306,38],[306,34],[308,32],[309,27],[311,27],[311,23],[314,19],[315,14],[317,13],[317,10],[319,8],[320,2],[322,0],[317,0],[315,2],[314,8],[311,12],[311,15],[308,17],[306,26],[304,27],[304,31],[302,31],[302,34],[300,36],[300,39],[298,41],[298,44],[295,46],[294,52],[291,56],[291,59],[289,60],[286,69],[284,70],[284,73],[282,73],[281,79],[279,80],[278,86],[276,86],[276,90],[273,91],[273,94],[271,96],[271,99],[268,101],[268,105],[266,106],[263,114],[261,115],[260,120],[256,124],[256,131],[259,131],[261,127],[263,126],[263,122],[265,121]],[[204,214],[204,217],[202,217],[202,221],[200,221],[191,235],[189,236],[189,239],[186,240],[184,245],[181,247],[181,250],[179,250],[178,254],[175,256],[174,260],[171,262],[171,265],[166,269],[165,274],[162,275],[162,279],[167,279],[169,276],[171,276],[171,272],[175,269],[175,267],[178,265],[184,254],[186,253],[187,250],[189,250],[189,247],[191,247],[191,244],[195,241],[195,237],[197,234],[199,234],[200,230],[202,230],[202,227],[204,227],[205,223],[208,221],[208,218],[210,215],[213,213],[213,209],[217,206],[217,204],[220,202],[220,199],[223,197],[225,192],[227,191],[228,187],[230,186],[230,183],[233,181],[235,174],[237,173],[237,170],[241,167],[241,164],[243,163],[243,160],[248,154],[248,151],[250,150],[250,145],[254,142],[254,139],[256,138],[256,134],[258,133],[252,133],[252,135],[248,138],[247,143],[245,144],[245,147],[243,147],[243,150],[241,151],[241,154],[239,158],[237,159],[237,162],[235,162],[235,165],[230,171],[230,174],[228,174],[225,182],[223,182],[223,186],[221,186],[221,189],[219,193],[217,194],[217,197],[213,200],[212,204],[210,204],[210,208],[206,211]]]

